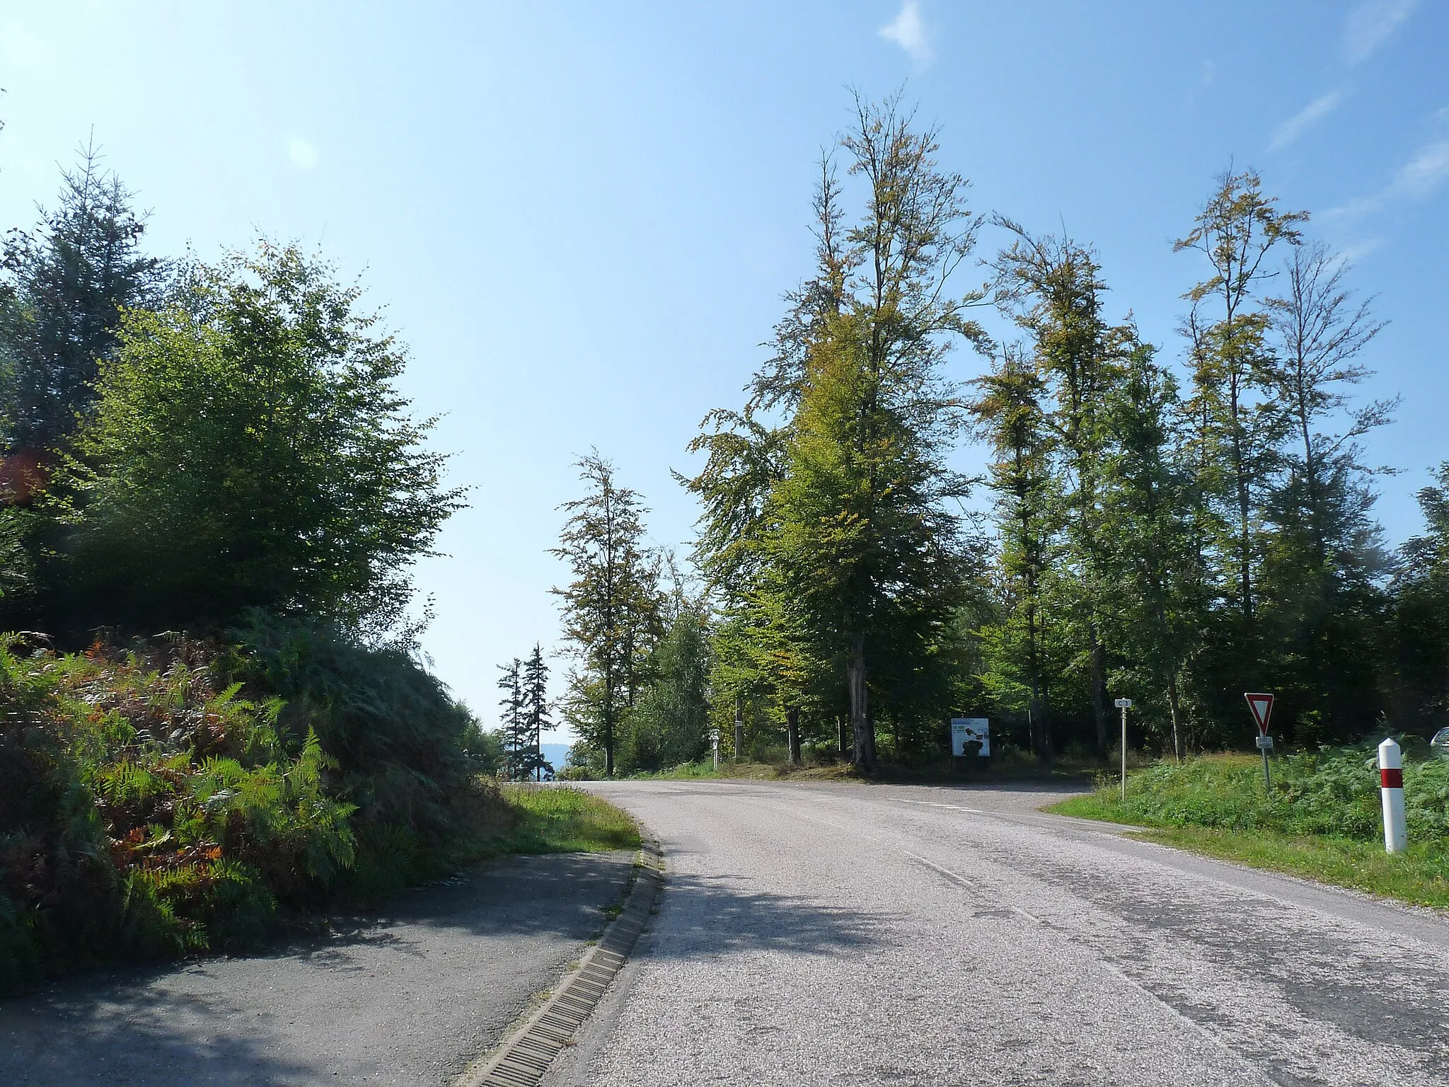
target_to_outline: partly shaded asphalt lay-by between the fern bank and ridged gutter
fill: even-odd
[[[448,1084],[604,926],[633,855],[520,857],[251,958],[0,1001],[0,1084]]]

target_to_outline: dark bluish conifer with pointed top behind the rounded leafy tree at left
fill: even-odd
[[[167,272],[141,252],[145,217],[101,170],[94,143],[61,178],[59,206],[4,246],[10,299],[0,301],[0,336],[9,343],[0,355],[9,355],[10,393],[0,438],[12,449],[51,449],[74,432],[100,362],[116,352],[122,312],[155,304]]]

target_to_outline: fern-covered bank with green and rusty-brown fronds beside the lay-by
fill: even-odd
[[[0,646],[0,987],[254,946],[497,830],[472,719],[404,652],[258,615],[246,638]]]

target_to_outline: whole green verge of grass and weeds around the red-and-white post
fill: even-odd
[[[1377,774],[1356,748],[1275,759],[1274,796],[1253,757],[1216,755],[1161,764],[1046,809],[1145,828],[1140,838],[1252,868],[1287,872],[1387,899],[1449,909],[1449,835],[1439,813],[1440,768],[1419,764],[1410,846],[1387,854],[1378,826]],[[1408,791],[1408,790],[1406,790]]]

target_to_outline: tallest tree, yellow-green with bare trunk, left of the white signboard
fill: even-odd
[[[880,655],[929,664],[961,581],[946,503],[964,481],[945,467],[959,404],[940,362],[951,336],[980,335],[965,319],[980,293],[946,293],[980,220],[965,178],[938,167],[936,136],[913,128],[898,97],[856,99],[839,146],[864,183],[861,217],[845,228],[826,159],[816,274],[790,296],[775,354],[745,415],[729,420],[732,441],[711,436],[720,462],[693,481],[714,503],[706,528],[716,548],[769,567],[809,654],[843,671],[852,759],[867,772],[877,765]],[[765,412],[787,417],[767,428],[755,417]],[[714,472],[726,465],[745,471]]]

